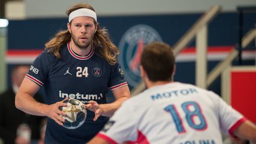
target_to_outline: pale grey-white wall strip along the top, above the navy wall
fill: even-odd
[[[137,15],[203,12],[212,5],[222,5],[223,11],[236,11],[239,6],[256,6],[255,0],[24,0],[27,18],[66,17],[73,4],[86,2],[98,15]]]

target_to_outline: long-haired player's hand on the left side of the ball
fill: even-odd
[[[66,99],[67,98],[65,98],[65,100]],[[65,100],[63,100],[63,101],[65,101]],[[65,122],[65,119],[60,117],[60,114],[62,116],[66,116],[66,113],[59,110],[59,107],[66,107],[66,103],[63,103],[63,101],[58,101],[55,104],[48,105],[47,110],[46,110],[46,116],[49,117],[50,119],[53,119],[60,126],[63,126],[63,122]]]

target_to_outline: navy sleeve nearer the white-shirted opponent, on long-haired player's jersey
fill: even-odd
[[[108,87],[111,90],[123,87],[124,85],[128,85],[126,79],[124,78],[123,69],[120,64],[117,62],[116,65],[111,66],[111,77],[108,82]]]

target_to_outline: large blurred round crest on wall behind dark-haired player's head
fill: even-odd
[[[135,87],[140,82],[139,63],[143,46],[152,41],[162,41],[159,34],[148,25],[135,25],[124,33],[119,43],[120,65],[127,82]]]

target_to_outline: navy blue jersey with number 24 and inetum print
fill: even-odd
[[[96,55],[93,47],[87,56],[79,56],[70,47],[63,46],[61,58],[44,50],[33,62],[25,76],[40,87],[44,86],[46,104],[54,104],[64,98],[75,98],[87,103],[106,103],[108,89],[127,85],[119,63],[110,65],[107,60]],[[48,119],[46,143],[85,143],[95,136],[104,126],[108,117],[101,116],[93,121],[94,112],[87,110],[87,118],[81,127],[66,129],[54,120]]]

